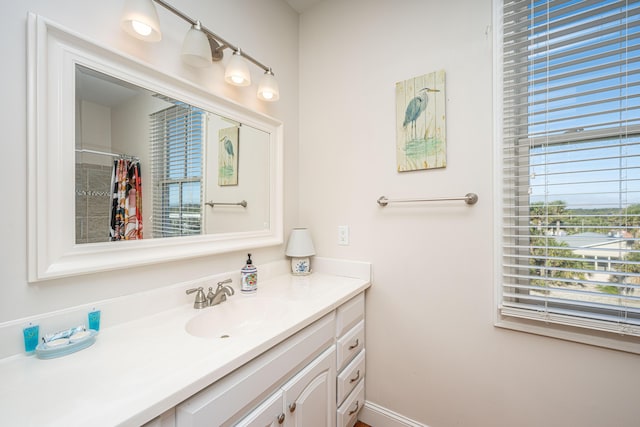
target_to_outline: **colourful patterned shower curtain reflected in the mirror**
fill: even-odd
[[[138,160],[118,159],[111,175],[111,240],[142,239],[142,181]]]

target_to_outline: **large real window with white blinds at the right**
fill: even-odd
[[[640,1],[497,1],[501,318],[640,336]]]

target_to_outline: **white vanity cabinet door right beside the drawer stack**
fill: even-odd
[[[331,346],[284,385],[286,427],[335,426],[335,360]]]

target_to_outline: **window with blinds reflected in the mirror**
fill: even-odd
[[[153,237],[200,234],[204,112],[175,105],[150,119]]]

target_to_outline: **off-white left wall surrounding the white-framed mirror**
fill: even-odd
[[[119,295],[161,287],[234,269],[240,269],[246,253],[202,257],[163,263],[126,271],[78,276],[74,278],[27,283],[27,198],[26,198],[26,21],[27,12],[42,15],[99,43],[112,46],[147,61],[151,66],[193,81],[211,93],[231,98],[286,123],[285,140],[285,229],[293,227],[296,215],[298,135],[298,15],[283,0],[235,0],[203,2],[172,0],[190,16],[229,41],[269,64],[280,83],[281,99],[274,104],[259,101],[255,92],[261,70],[250,65],[256,83],[236,88],[224,83],[224,64],[194,69],[180,61],[182,39],[188,25],[158,7],[163,40],[149,44],[120,30],[123,1],[25,0],[2,3],[0,43],[4,64],[0,70],[2,94],[0,106],[4,136],[3,167],[0,181],[5,183],[5,221],[0,243],[0,322],[50,312]],[[73,191],[73,189],[69,189]],[[51,203],[55,209],[55,201]],[[72,220],[72,219],[70,219]],[[284,258],[282,246],[254,250],[260,265]],[[185,298],[188,298],[185,296]]]

